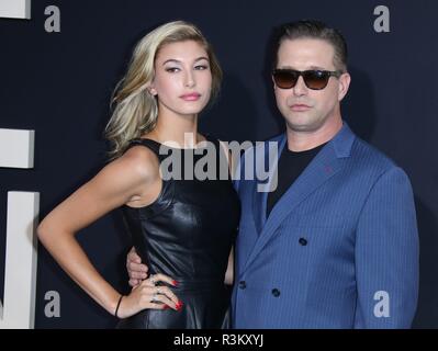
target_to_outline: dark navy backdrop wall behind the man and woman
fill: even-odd
[[[390,32],[377,33],[377,5],[390,9]],[[44,10],[60,10],[60,33],[47,33]],[[183,19],[215,46],[225,71],[220,101],[201,131],[224,140],[262,140],[283,124],[267,71],[271,29],[315,18],[349,44],[352,83],[342,115],[362,138],[409,176],[420,234],[420,293],[415,327],[438,327],[438,2],[422,1],[103,1],[34,0],[32,20],[0,19],[0,127],[35,129],[35,168],[0,168],[0,293],[3,292],[7,191],[41,193],[41,218],[104,163],[102,138],[111,92],[134,44],[149,30]],[[102,274],[126,290],[130,238],[117,212],[79,234]],[[60,317],[47,318],[44,295],[60,294]],[[111,328],[115,319],[38,249],[36,328]]]

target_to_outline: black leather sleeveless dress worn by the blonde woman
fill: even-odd
[[[151,139],[134,139],[130,145],[143,145],[154,151],[161,165],[161,174],[164,169],[180,171],[179,179],[175,176],[178,172],[172,173],[171,179],[161,177],[161,191],[153,204],[139,208],[124,205],[122,210],[142,261],[148,265],[149,273],[164,273],[179,283],[168,286],[183,306],[179,312],[144,309],[122,319],[117,328],[229,327],[231,290],[224,284],[224,278],[238,230],[240,203],[231,178],[220,179],[221,169],[223,172],[225,168],[225,174],[229,174],[224,149],[218,140],[206,139],[210,146],[198,149],[171,148]],[[169,160],[166,154],[181,155],[181,167],[172,163],[165,168],[162,162]],[[211,167],[213,172],[209,173],[214,177],[204,180],[190,177],[196,167],[202,168],[196,161],[202,162],[204,156],[209,156],[209,161],[214,156],[210,165],[215,167]]]

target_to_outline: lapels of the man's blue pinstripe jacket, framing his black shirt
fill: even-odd
[[[285,145],[285,135],[279,146],[279,156]],[[342,167],[341,158],[349,157],[355,135],[345,123],[339,133],[315,156],[303,173],[281,196],[266,218],[268,193],[254,189],[254,215],[259,237],[249,253],[244,270],[258,256],[285,217],[308,195],[334,177]],[[278,160],[276,160],[278,163]],[[276,163],[276,166],[277,166]],[[256,182],[255,182],[256,183]],[[258,216],[258,217],[257,217]],[[258,218],[258,219],[257,219]]]

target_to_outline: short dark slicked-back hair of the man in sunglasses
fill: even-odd
[[[315,38],[332,44],[335,49],[334,65],[337,70],[347,71],[347,42],[342,34],[316,20],[302,20],[285,23],[274,30],[273,67],[278,64],[278,52],[284,39]]]

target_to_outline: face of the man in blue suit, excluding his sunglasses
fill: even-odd
[[[278,52],[279,69],[335,71],[334,47],[315,38],[284,39]],[[277,106],[284,116],[288,128],[294,132],[316,132],[340,121],[339,102],[347,93],[348,73],[330,77],[322,90],[312,90],[300,77],[290,89],[274,84]]]

